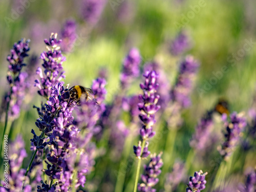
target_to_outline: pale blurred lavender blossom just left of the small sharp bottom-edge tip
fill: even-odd
[[[166,175],[165,190],[173,191],[177,186],[184,182],[186,179],[186,168],[185,163],[177,161],[174,163],[173,170],[171,173]]]

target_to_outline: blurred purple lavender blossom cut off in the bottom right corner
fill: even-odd
[[[256,191],[256,169],[251,170],[245,179],[245,185],[239,187],[241,192],[255,192]]]

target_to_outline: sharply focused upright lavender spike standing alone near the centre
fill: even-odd
[[[156,133],[153,132],[152,126],[156,123],[155,113],[160,109],[160,105],[157,105],[159,95],[156,93],[159,84],[157,79],[159,75],[156,71],[146,71],[143,74],[145,77],[144,84],[140,84],[140,88],[143,90],[144,94],[139,95],[140,102],[138,103],[138,108],[140,110],[139,118],[143,123],[140,129],[140,135],[143,140],[152,138]],[[135,155],[140,158],[141,146],[140,142],[138,146],[134,146]],[[143,148],[142,157],[145,158],[150,154],[147,152],[147,145]]]

